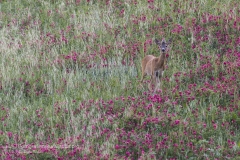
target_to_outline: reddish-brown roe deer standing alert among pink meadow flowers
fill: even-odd
[[[160,42],[159,40],[155,40],[156,44],[158,45],[159,49],[162,51],[159,57],[155,57],[153,55],[147,55],[142,59],[142,79],[146,75],[151,76],[151,82],[148,85],[150,91],[153,90],[154,92],[157,90],[158,85],[160,85],[161,78],[163,76],[165,65],[166,65],[166,53],[168,52],[168,45],[171,44],[171,39],[166,42],[165,39]]]

